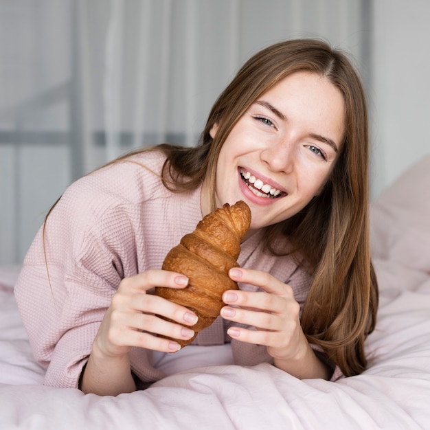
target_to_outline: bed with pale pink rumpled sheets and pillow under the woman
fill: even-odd
[[[117,397],[44,386],[14,301],[19,267],[1,268],[0,428],[430,429],[430,156],[371,216],[381,297],[370,366],[335,383],[261,364],[192,367]]]

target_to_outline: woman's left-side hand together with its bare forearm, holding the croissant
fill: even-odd
[[[197,321],[192,311],[148,293],[155,286],[184,288],[187,284],[185,276],[157,269],[122,280],[104,314],[82,370],[79,383],[82,392],[116,396],[134,391],[136,385],[128,356],[133,346],[176,352],[179,343],[157,335],[174,339],[190,339],[194,335],[194,331],[187,328]]]

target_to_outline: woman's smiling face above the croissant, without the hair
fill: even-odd
[[[225,139],[216,169],[216,206],[246,199],[253,214],[251,229],[297,214],[320,194],[335,166],[344,111],[339,89],[316,73],[295,72],[275,84]],[[272,189],[277,199],[267,199],[274,195]]]

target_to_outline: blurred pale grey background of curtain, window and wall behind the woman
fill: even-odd
[[[430,152],[427,0],[0,0],[0,264],[67,185],[144,145],[194,145],[258,50],[318,37],[367,92],[372,199]]]

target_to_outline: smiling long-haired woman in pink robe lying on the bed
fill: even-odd
[[[223,203],[252,221],[216,323],[196,344],[299,378],[359,374],[378,301],[368,231],[365,95],[320,41],[253,56],[220,95],[195,148],[158,146],[71,185],[25,259],[16,298],[45,383],[119,394],[165,376],[157,354],[196,315],[151,294],[188,280],[161,262]],[[157,315],[176,322],[168,322]],[[154,352],[152,352],[154,351]]]

